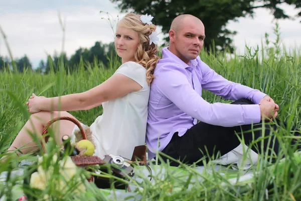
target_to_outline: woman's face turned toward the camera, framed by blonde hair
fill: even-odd
[[[118,25],[114,43],[118,56],[122,58],[122,63],[135,60],[134,54],[139,45],[137,32]]]

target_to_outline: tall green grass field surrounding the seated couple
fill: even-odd
[[[252,49],[246,51],[243,56],[234,55],[231,58],[227,53],[214,55],[202,51],[201,59],[225,78],[269,94],[280,107],[278,118],[286,121],[288,125],[293,124],[300,128],[301,56],[296,49],[291,53],[285,53],[278,48],[275,44],[272,48],[262,47],[262,51]],[[7,155],[7,148],[30,116],[25,103],[33,92],[46,97],[82,92],[106,80],[119,64],[116,59],[111,60],[108,68],[96,61],[91,64],[80,62],[78,71],[72,75],[66,73],[63,64],[60,64],[59,72],[51,72],[47,75],[31,71],[0,72],[0,153],[2,156]],[[88,70],[85,71],[84,66]],[[203,92],[203,97],[210,103],[230,103],[229,100],[208,91]],[[101,107],[89,111],[71,112],[87,125],[90,125],[101,113]],[[141,200],[301,200],[301,164],[298,157],[293,155],[295,149],[288,146],[288,140],[294,137],[282,126],[271,135],[278,137],[281,152],[276,156],[276,162],[273,164],[270,163],[270,156],[262,155],[257,166],[250,170],[254,173],[251,179],[238,183],[230,182],[224,174],[211,171],[213,166],[210,163],[202,173],[196,171],[194,166],[181,164],[179,168],[171,168],[168,164],[162,164],[161,167],[165,169],[162,173],[164,179],[154,174],[153,183],[147,176],[142,176],[139,182],[131,181],[133,186],[138,186],[132,194],[138,195]],[[54,145],[49,147],[50,156],[58,152],[58,148]],[[283,157],[285,160],[281,161]],[[18,169],[19,161],[24,158],[35,160],[36,157],[9,155],[9,159],[0,164],[0,172],[12,172]],[[60,168],[58,164],[53,166],[55,170]],[[243,174],[240,170],[228,169],[234,177]],[[85,171],[78,170],[76,176],[81,178],[84,174]],[[25,176],[26,174],[7,177],[6,184],[0,184],[0,197],[16,200],[17,195],[24,190],[20,182]],[[84,190],[79,194],[72,193],[79,186],[77,181],[70,181],[63,190],[58,189],[55,185],[58,179],[59,175],[54,173],[44,191],[35,191],[39,200],[109,199],[104,191],[87,182],[80,182],[83,183],[84,187],[81,188]],[[15,192],[19,194],[16,195]]]

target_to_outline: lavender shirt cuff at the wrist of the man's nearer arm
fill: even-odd
[[[245,111],[245,124],[257,124],[260,122],[259,105],[241,105]]]

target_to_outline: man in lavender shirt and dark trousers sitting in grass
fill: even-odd
[[[272,98],[223,78],[200,59],[205,28],[198,18],[178,16],[169,37],[170,46],[162,51],[150,88],[146,129],[149,159],[157,150],[188,163],[218,151],[224,155],[240,144],[235,134],[240,132],[238,126],[247,125],[243,129],[250,130],[252,123],[277,116],[279,107]],[[209,104],[202,98],[202,89],[237,101]],[[259,131],[255,135],[261,136]],[[251,137],[244,135],[246,144]]]

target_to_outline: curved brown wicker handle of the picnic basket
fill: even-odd
[[[53,124],[54,122],[59,121],[59,120],[69,120],[69,121],[73,122],[76,126],[78,126],[78,128],[83,136],[83,139],[84,140],[87,139],[86,133],[85,133],[83,127],[81,126],[80,122],[77,119],[75,119],[73,117],[57,117],[57,118],[54,118],[53,120],[49,121],[43,129],[43,133],[42,133],[43,140],[42,140],[41,145],[42,145],[42,149],[43,149],[44,153],[46,151],[45,143],[48,141],[48,138],[49,138],[49,136],[45,136],[47,134],[48,128],[50,127],[51,124]]]

